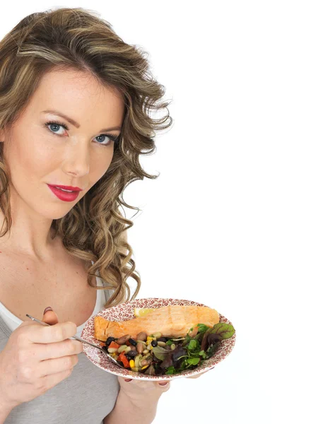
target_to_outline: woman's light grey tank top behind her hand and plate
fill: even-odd
[[[102,284],[105,285],[103,281]],[[109,293],[104,291],[107,299]],[[11,333],[0,315],[0,351]],[[118,393],[117,376],[96,367],[81,352],[69,377],[32,401],[13,408],[4,423],[102,424],[114,408]]]

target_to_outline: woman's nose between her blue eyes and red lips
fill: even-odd
[[[68,146],[63,168],[66,174],[76,177],[83,177],[90,172],[90,152],[86,142],[74,142]]]

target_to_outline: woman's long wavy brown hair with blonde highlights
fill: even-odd
[[[32,13],[0,42],[1,129],[11,129],[42,76],[52,70],[89,71],[98,82],[123,95],[124,121],[110,167],[69,213],[52,221],[53,238],[59,235],[67,251],[87,263],[88,284],[98,290],[93,280],[100,276],[108,283],[101,289],[114,290],[105,307],[134,300],[139,293],[141,278],[124,237],[134,223],[119,207],[140,211],[126,204],[122,194],[137,179],[158,177],[143,170],[139,157],[152,154],[156,131],[172,124],[167,109],[170,102],[163,100],[165,88],[151,75],[147,56],[141,47],[126,44],[98,13],[83,8]],[[166,110],[163,117],[151,117],[152,111],[162,109]],[[3,145],[0,143],[0,208],[4,230],[0,237],[10,232],[12,225],[10,175]],[[126,282],[129,277],[136,281],[132,296]]]

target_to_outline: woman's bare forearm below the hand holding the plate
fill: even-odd
[[[119,390],[112,412],[104,418],[104,424],[151,424],[157,412],[158,399],[153,402],[134,404]]]

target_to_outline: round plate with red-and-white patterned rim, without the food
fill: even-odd
[[[134,308],[135,307],[151,307],[159,308],[168,305],[196,305],[196,306],[206,306],[203,303],[193,302],[192,300],[182,300],[182,299],[163,299],[163,298],[145,298],[145,299],[136,299],[128,302],[121,303],[119,305],[101,310],[98,314],[95,314],[93,317],[88,319],[86,326],[83,328],[81,333],[81,338],[84,340],[90,341],[90,343],[95,343],[98,346],[103,346],[102,341],[98,341],[94,337],[94,318],[103,317],[108,321],[127,321],[128,319],[134,319]],[[226,324],[232,324],[227,318],[223,317],[219,313],[220,322],[225,322]],[[198,323],[199,324],[199,323]],[[160,329],[158,329],[160,331]],[[123,334],[124,336],[124,334]],[[83,353],[88,357],[88,359],[97,367],[100,367],[102,370],[110,372],[111,374],[118,375],[119,377],[139,379],[139,380],[157,380],[157,381],[170,381],[175,378],[181,377],[192,377],[193,375],[200,374],[214,368],[218,363],[225,359],[232,348],[235,345],[236,333],[233,334],[231,338],[220,341],[220,346],[216,350],[216,353],[209,358],[208,360],[201,361],[194,370],[184,370],[178,374],[172,375],[145,375],[141,372],[135,372],[131,370],[124,369],[119,367],[112,362],[110,358],[107,358],[106,355],[103,355],[99,349],[94,348],[93,346],[83,343]]]

